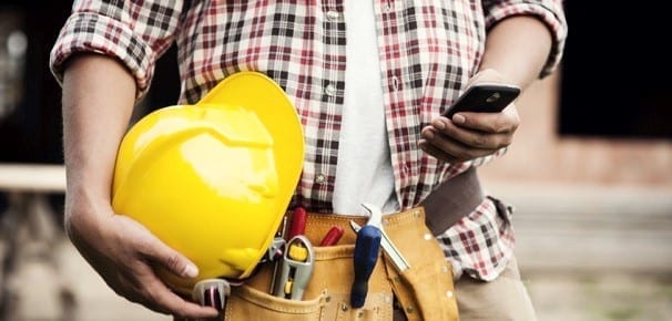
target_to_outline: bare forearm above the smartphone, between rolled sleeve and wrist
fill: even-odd
[[[551,46],[551,33],[537,18],[511,17],[488,32],[480,70],[493,69],[505,81],[525,89],[539,77]]]

